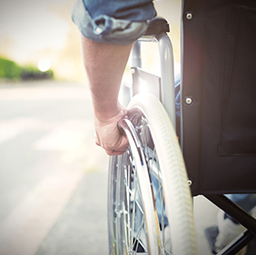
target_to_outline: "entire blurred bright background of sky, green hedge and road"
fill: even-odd
[[[94,145],[73,4],[0,3],[1,255],[108,254],[108,157]],[[171,25],[179,66],[181,1],[154,5]],[[148,50],[146,63],[156,70],[157,53]],[[203,254],[211,254],[203,230],[199,236]]]

